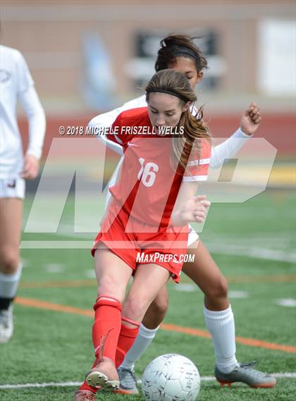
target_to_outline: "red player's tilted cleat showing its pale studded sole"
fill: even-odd
[[[94,388],[113,389],[119,387],[119,378],[114,362],[101,357],[95,366],[86,376],[85,381]]]

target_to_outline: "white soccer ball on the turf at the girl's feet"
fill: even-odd
[[[199,388],[197,367],[178,354],[155,358],[142,376],[142,393],[147,401],[195,401]]]

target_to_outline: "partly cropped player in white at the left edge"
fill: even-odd
[[[23,155],[16,105],[29,122],[29,142]],[[0,343],[13,335],[13,299],[22,271],[20,233],[25,180],[39,171],[45,116],[34,81],[20,51],[0,45]]]

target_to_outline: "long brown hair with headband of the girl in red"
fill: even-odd
[[[173,69],[161,70],[155,73],[145,87],[146,100],[149,104],[149,94],[153,92],[164,92],[172,94],[180,99],[184,106],[188,101],[192,103],[197,100],[197,95],[192,90],[189,81],[182,73]],[[196,148],[200,154],[199,139],[210,140],[209,129],[202,121],[202,109],[199,109],[198,117],[192,116],[190,109],[183,111],[177,125],[184,127],[183,135],[173,137],[173,161],[178,164],[178,171],[182,171],[187,166],[192,148]]]

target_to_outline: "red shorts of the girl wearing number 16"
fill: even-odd
[[[128,230],[125,228],[128,226]],[[171,272],[177,283],[187,252],[188,226],[159,228],[132,218],[115,202],[109,206],[101,231],[94,240],[92,256],[99,244],[123,259],[135,271],[138,264],[158,264]],[[127,232],[128,231],[128,232]]]

